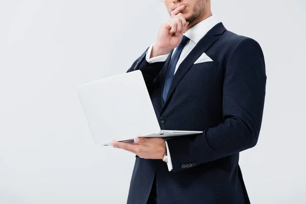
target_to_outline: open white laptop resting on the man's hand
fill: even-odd
[[[140,70],[82,84],[77,90],[95,144],[202,133],[161,130]]]

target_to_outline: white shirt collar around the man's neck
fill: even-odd
[[[217,16],[212,15],[195,24],[184,35],[197,44],[219,22]]]

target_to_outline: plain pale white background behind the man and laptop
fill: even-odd
[[[240,165],[252,203],[305,203],[302,0],[212,0],[266,59],[264,118]],[[169,15],[159,0],[0,0],[0,203],[125,203],[135,157],[93,144],[75,87],[124,73]]]

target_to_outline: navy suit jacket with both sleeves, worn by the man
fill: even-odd
[[[159,203],[249,203],[238,161],[240,151],[256,145],[262,123],[267,77],[260,45],[218,23],[181,63],[164,103],[172,52],[156,63],[144,52],[127,72],[142,71],[162,130],[203,134],[167,140],[170,172],[162,160],[136,156],[127,203],[146,203],[155,176]],[[202,53],[213,61],[194,64]]]

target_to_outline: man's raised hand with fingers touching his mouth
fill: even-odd
[[[184,31],[189,24],[181,13],[184,9],[184,5],[176,7],[171,12],[171,19],[162,23],[157,42],[152,47],[150,58],[168,54],[171,49],[179,46]]]

